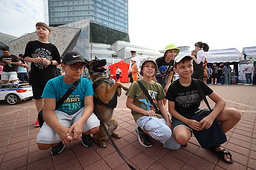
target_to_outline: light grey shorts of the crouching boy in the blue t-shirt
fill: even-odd
[[[74,122],[77,122],[79,118],[81,118],[83,113],[84,107],[81,108],[81,110],[77,111],[74,115],[67,115],[66,113],[63,113],[62,111],[56,110],[55,113],[58,116],[58,120],[61,125],[64,125],[65,127],[70,127]],[[83,132],[89,131],[90,129],[93,129],[94,127],[97,127],[100,125],[99,119],[96,117],[94,113],[86,120],[83,126]],[[59,143],[60,137],[58,134],[44,122],[44,125],[40,129],[39,133],[36,136],[36,142],[37,143],[44,143],[44,144],[51,144],[51,143]]]

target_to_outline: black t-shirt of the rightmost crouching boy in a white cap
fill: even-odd
[[[205,85],[202,80],[198,80],[205,95],[209,96],[213,90]],[[169,101],[175,102],[175,110],[183,117],[190,118],[195,115],[195,111],[200,107],[200,96],[195,83],[191,81],[188,87],[180,84],[179,79],[174,81],[165,96]]]

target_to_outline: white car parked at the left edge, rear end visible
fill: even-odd
[[[21,100],[33,99],[31,85],[23,83],[19,85],[0,84],[0,100],[7,101],[9,104],[20,103]]]

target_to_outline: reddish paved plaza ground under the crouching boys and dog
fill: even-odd
[[[163,148],[154,139],[151,148],[141,146],[134,132],[136,124],[131,110],[125,106],[123,90],[114,111],[118,121],[116,132],[122,138],[114,141],[125,159],[136,169],[256,169],[256,85],[210,87],[226,101],[227,107],[237,108],[242,115],[240,122],[227,132],[228,141],[222,145],[232,153],[233,164],[201,148],[194,137],[179,150]],[[207,108],[204,103],[201,106]],[[0,169],[129,169],[110,141],[107,148],[97,145],[85,148],[81,140],[74,141],[54,156],[50,150],[38,150],[35,138],[40,128],[33,126],[36,117],[34,100],[14,106],[0,102]]]

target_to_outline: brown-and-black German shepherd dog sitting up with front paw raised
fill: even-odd
[[[112,116],[117,104],[117,96],[121,96],[122,89],[127,91],[128,88],[120,81],[115,82],[109,78],[106,59],[96,58],[91,60],[88,71],[93,81],[94,108],[97,109],[101,121],[104,123],[106,129],[108,129],[109,134],[114,138],[120,139],[120,135],[114,132],[118,124]],[[93,140],[101,148],[106,148],[104,141],[107,139],[108,136],[100,124],[99,132],[93,134]]]

